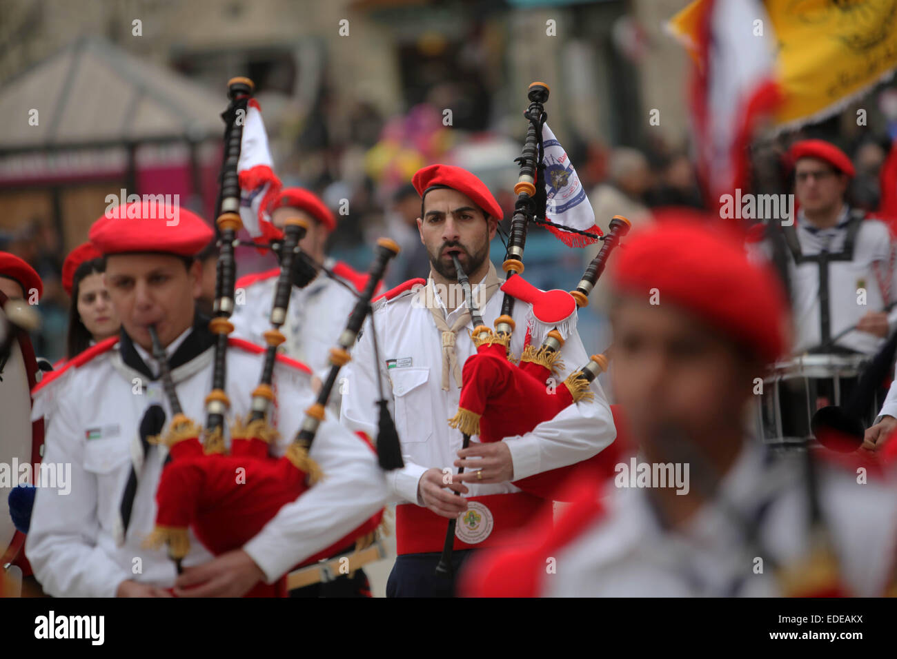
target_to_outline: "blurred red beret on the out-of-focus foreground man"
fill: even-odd
[[[615,288],[672,302],[734,337],[766,362],[788,345],[788,304],[776,274],[755,264],[734,231],[699,213],[658,212],[633,231],[613,267]]]

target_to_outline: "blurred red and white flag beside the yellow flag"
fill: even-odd
[[[691,114],[698,174],[710,208],[748,184],[757,122],[782,100],[772,22],[760,0],[702,0],[670,23],[692,49]],[[683,21],[695,27],[692,34]]]

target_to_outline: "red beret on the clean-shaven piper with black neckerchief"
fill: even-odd
[[[100,254],[162,252],[196,256],[215,232],[201,217],[170,204],[125,204],[93,222],[88,234]]]

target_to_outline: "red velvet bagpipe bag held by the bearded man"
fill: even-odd
[[[468,434],[479,435],[485,443],[523,435],[539,423],[553,419],[574,402],[566,384],[546,385],[546,380],[552,377],[551,369],[526,360],[526,356],[519,365],[512,363],[502,343],[479,345],[476,353],[465,361],[461,375],[458,408],[479,415],[479,431]],[[619,410],[612,407],[612,412],[616,422]],[[452,425],[465,431],[463,423]],[[574,473],[591,473],[597,478],[610,476],[622,451],[618,430],[618,439],[588,460],[513,482],[520,490],[537,497],[563,501],[565,485]]]

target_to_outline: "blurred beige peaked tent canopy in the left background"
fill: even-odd
[[[79,39],[0,90],[0,153],[199,142],[221,134],[222,97],[108,41]]]

